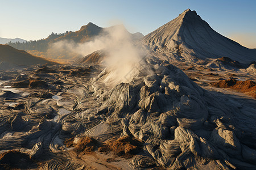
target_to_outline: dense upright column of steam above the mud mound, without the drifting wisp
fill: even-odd
[[[102,80],[106,84],[115,85],[121,82],[129,82],[138,68],[144,65],[145,53],[136,48],[129,32],[122,26],[115,26],[107,30],[107,38],[104,40],[104,50],[108,53],[105,58],[106,75]]]

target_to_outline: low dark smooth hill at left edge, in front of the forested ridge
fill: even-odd
[[[0,44],[0,70],[27,67],[36,64],[54,63],[47,59],[32,56],[24,50]]]

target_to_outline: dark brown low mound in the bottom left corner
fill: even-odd
[[[30,169],[36,168],[38,165],[26,154],[8,151],[0,155],[0,167],[3,169]]]

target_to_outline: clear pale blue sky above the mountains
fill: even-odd
[[[256,48],[256,1],[28,1],[0,0],[0,37],[46,38],[51,32],[77,31],[92,22],[100,27],[123,23],[144,35],[190,8],[233,40]]]

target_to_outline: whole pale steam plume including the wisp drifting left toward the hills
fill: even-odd
[[[52,45],[51,53],[65,52],[73,56],[86,56],[96,50],[103,49],[107,55],[105,75],[102,81],[106,84],[129,82],[138,68],[144,64],[145,53],[135,47],[131,34],[123,25],[105,28],[100,36],[85,43],[59,41]]]

